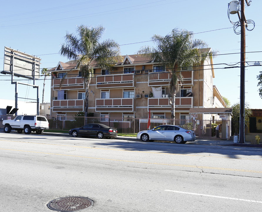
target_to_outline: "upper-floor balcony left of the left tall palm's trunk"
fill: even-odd
[[[83,78],[64,78],[60,87],[61,78],[53,79],[54,90],[79,90],[85,89]]]

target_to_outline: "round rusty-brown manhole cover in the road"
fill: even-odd
[[[85,197],[61,197],[50,201],[47,207],[54,211],[80,211],[93,205],[93,201]]]

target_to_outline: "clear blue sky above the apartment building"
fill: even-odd
[[[152,46],[153,43],[146,41],[150,41],[154,34],[164,36],[174,28],[181,28],[193,31],[196,33],[195,39],[202,39],[209,47],[218,50],[219,54],[225,54],[213,59],[214,85],[231,104],[238,103],[240,68],[223,69],[240,61],[240,35],[234,33],[233,25],[228,20],[229,2],[230,0],[46,0],[29,4],[17,0],[4,1],[0,10],[0,69],[3,69],[5,46],[40,57],[41,69],[56,67],[59,61],[67,62],[66,58],[57,53],[66,32],[76,32],[76,26],[81,24],[103,25],[106,28],[103,39],[110,38],[118,42],[123,55],[135,54],[143,45]],[[245,7],[246,19],[251,19],[256,24],[253,31],[246,31],[246,52],[255,52],[246,53],[249,64],[258,61],[262,64],[262,53],[259,52],[262,51],[261,8],[260,0],[253,0],[250,6]],[[238,20],[237,14],[230,18],[234,22]],[[261,70],[261,66],[246,68],[245,100],[253,109],[262,109],[256,79]],[[10,76],[0,74],[0,99],[14,100],[15,87],[10,80]],[[28,80],[23,82],[32,83]],[[37,85],[40,86],[41,102],[43,81],[38,80]],[[19,85],[18,96],[34,99],[36,89]],[[50,80],[46,82],[44,101],[50,102]]]

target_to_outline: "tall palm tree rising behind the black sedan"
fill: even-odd
[[[89,84],[94,74],[91,64],[96,64],[102,69],[110,69],[117,62],[122,61],[119,44],[114,40],[107,39],[100,42],[105,28],[77,27],[77,35],[66,33],[65,43],[62,44],[60,54],[67,59],[76,61],[76,68],[82,73],[85,85],[85,117],[88,110]],[[69,71],[70,72],[70,71]]]

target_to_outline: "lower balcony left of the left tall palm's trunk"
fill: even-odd
[[[79,112],[84,111],[85,100],[52,100],[53,112]]]

